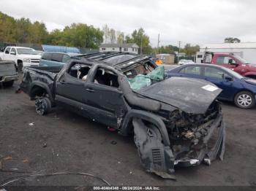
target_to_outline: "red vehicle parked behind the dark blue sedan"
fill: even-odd
[[[256,64],[248,63],[244,58],[233,53],[206,52],[203,63],[211,63],[224,66],[236,71],[244,77],[256,79]]]

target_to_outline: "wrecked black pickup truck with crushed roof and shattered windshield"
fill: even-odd
[[[225,152],[225,124],[205,80],[165,79],[145,55],[84,55],[63,68],[26,67],[20,88],[37,114],[65,106],[91,120],[134,134],[146,171],[174,179],[175,165],[208,165]]]

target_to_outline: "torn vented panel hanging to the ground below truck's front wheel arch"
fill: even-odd
[[[132,125],[141,165],[146,168],[146,171],[164,179],[176,179],[173,152],[162,142],[159,128],[152,124],[146,125],[138,117],[132,119]]]

